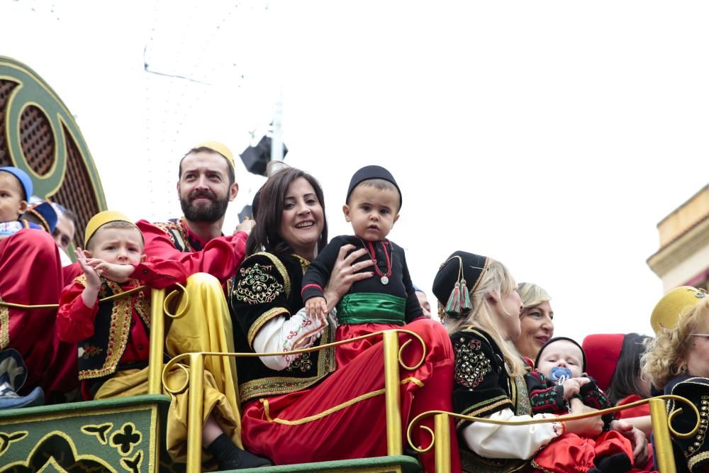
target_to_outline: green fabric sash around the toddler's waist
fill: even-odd
[[[340,323],[404,324],[406,299],[373,292],[346,294],[337,304]]]

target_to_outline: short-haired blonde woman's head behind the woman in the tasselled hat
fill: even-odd
[[[542,345],[554,336],[554,311],[549,304],[552,297],[542,286],[531,282],[520,282],[517,292],[522,299],[522,312],[515,347],[523,357],[535,360]]]

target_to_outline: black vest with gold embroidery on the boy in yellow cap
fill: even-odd
[[[77,280],[86,286],[85,276],[80,276]],[[140,282],[133,279],[130,284],[137,287]],[[99,299],[122,292],[121,286],[101,278]],[[99,312],[96,313],[94,321],[94,335],[79,342],[79,379],[101,378],[116,372],[130,338],[133,306],[146,331],[150,330],[150,305],[145,300],[143,291],[99,303]]]

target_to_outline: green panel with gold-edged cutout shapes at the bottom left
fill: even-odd
[[[0,473],[155,472],[167,396],[0,411]]]

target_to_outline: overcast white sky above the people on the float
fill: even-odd
[[[709,180],[704,1],[0,0],[0,21],[0,55],[77,116],[111,208],[177,216],[179,157],[240,152],[282,91],[286,162],[322,182],[331,235],[351,231],[352,172],[384,165],[390,237],[430,298],[450,252],[489,255],[579,340],[651,333],[656,225]],[[230,228],[260,185],[238,181]]]

